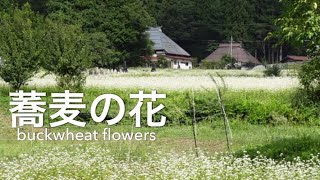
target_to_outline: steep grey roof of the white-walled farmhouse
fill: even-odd
[[[154,43],[155,51],[165,51],[167,54],[190,56],[190,54],[182,49],[177,43],[165,35],[160,27],[152,27],[147,31],[150,40]]]

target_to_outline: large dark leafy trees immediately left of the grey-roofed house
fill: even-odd
[[[119,66],[123,61],[141,65],[141,56],[150,53],[144,32],[154,20],[140,0],[51,0],[48,6],[51,19],[80,25],[91,36],[91,44],[97,43],[94,65]]]

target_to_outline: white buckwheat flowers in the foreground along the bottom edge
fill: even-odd
[[[125,158],[124,158],[125,159]],[[157,153],[119,160],[106,148],[53,148],[0,160],[0,179],[319,179],[320,160],[276,162],[216,154]]]

